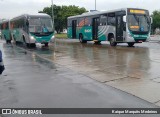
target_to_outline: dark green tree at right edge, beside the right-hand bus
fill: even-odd
[[[153,14],[151,16],[153,18],[152,30],[160,28],[160,11],[153,11]]]

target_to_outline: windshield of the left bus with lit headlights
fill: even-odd
[[[52,20],[50,18],[30,18],[29,31],[32,33],[53,32]]]

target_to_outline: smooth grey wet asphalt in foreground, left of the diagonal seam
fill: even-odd
[[[1,108],[157,108],[155,104],[93,80],[92,77],[80,73],[82,72],[78,71],[82,70],[80,68],[73,70],[65,64],[55,63],[56,61],[47,58],[51,57],[52,53],[48,48],[25,50],[3,43],[0,43],[0,47],[6,67],[0,77]],[[39,49],[43,56],[39,53]],[[55,55],[57,56],[58,54]],[[87,68],[84,73],[91,71],[91,68]],[[17,116],[2,115],[2,117]],[[133,117],[134,115],[45,115],[45,117],[53,116]],[[151,115],[137,115],[137,117],[147,116]],[[158,117],[158,115],[152,116]]]

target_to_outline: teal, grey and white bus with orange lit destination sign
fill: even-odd
[[[79,39],[81,43],[109,41],[135,43],[149,41],[152,19],[149,11],[137,8],[124,8],[112,11],[95,11],[68,17],[67,35]]]

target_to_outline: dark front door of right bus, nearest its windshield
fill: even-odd
[[[116,16],[116,41],[123,42],[123,16]]]

